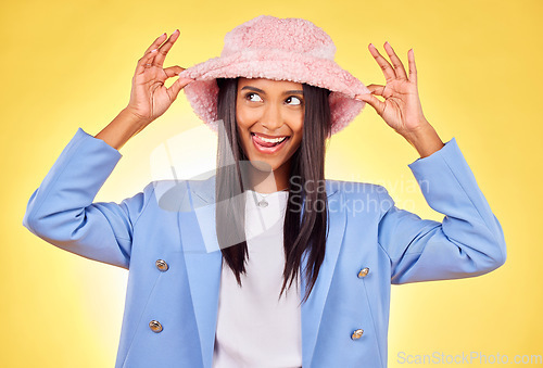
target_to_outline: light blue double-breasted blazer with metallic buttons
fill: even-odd
[[[212,367],[222,269],[215,178],[153,182],[121,204],[93,203],[119,158],[79,129],[31,195],[24,226],[129,269],[115,367]],[[303,367],[387,367],[391,283],[472,277],[505,262],[502,227],[454,138],[409,168],[442,223],[397,208],[381,186],[327,180],[330,227],[302,305]]]

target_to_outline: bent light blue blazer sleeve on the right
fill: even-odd
[[[391,282],[458,279],[487,274],[505,263],[500,221],[453,138],[411,165],[427,203],[443,221],[400,210],[381,189],[378,240],[391,262]]]

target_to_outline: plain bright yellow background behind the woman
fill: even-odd
[[[443,141],[456,138],[504,228],[508,258],[496,271],[393,287],[389,365],[399,366],[400,352],[543,354],[542,4],[2,2],[0,366],[113,366],[127,272],[34,237],[22,226],[28,198],[78,127],[94,135],[126,105],[136,62],[161,33],[180,29],[165,64],[188,67],[217,56],[224,35],[260,14],[314,22],[334,40],[337,62],[366,85],[383,81],[369,42],[382,51],[388,40],[404,63],[414,48],[425,114]],[[97,200],[141,190],[150,152],[198,124],[180,96],[122,150]],[[441,220],[413,190],[407,164],[417,157],[367,106],[332,138],[327,177],[383,183],[400,206]]]

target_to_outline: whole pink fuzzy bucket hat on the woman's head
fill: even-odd
[[[195,114],[217,131],[216,78],[291,80],[329,89],[331,134],[342,130],[365,102],[355,94],[369,93],[362,81],[334,61],[336,46],[321,28],[302,18],[261,15],[225,36],[219,58],[193,65],[179,74],[193,78],[184,88]]]

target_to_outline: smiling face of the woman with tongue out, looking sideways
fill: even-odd
[[[275,175],[289,175],[290,158],[302,141],[304,111],[301,84],[239,78],[236,119],[249,160],[265,162]]]

